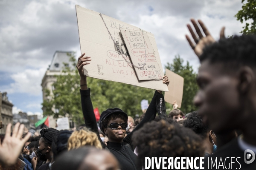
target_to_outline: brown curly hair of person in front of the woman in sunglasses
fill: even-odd
[[[132,137],[138,149],[138,158],[145,164],[145,157],[198,157],[204,155],[202,139],[192,130],[177,123],[171,125],[160,122],[146,123]]]

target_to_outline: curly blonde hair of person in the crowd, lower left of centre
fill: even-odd
[[[99,142],[96,133],[88,130],[87,128],[82,128],[74,131],[71,134],[70,138],[68,139],[67,150],[77,149],[85,145],[102,149],[102,145]]]

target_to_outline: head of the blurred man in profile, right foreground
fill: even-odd
[[[194,103],[204,122],[216,133],[245,132],[256,121],[256,37],[220,40],[204,49],[200,61]]]

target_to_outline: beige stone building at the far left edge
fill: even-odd
[[[0,134],[4,134],[6,132],[7,125],[12,123],[12,107],[13,104],[9,102],[7,92],[0,93],[0,120],[3,124],[3,128],[0,129]]]

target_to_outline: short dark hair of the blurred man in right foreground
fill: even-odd
[[[209,63],[221,62],[227,67],[238,69],[247,65],[256,67],[256,36],[241,35],[233,38],[221,39],[204,48],[199,57],[200,62],[208,59]]]

